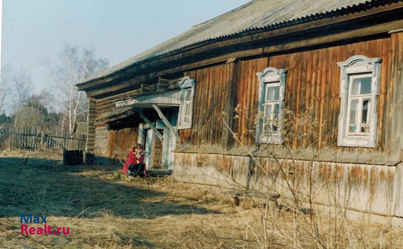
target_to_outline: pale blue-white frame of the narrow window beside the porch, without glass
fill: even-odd
[[[183,129],[191,129],[192,128],[192,121],[193,121],[193,99],[194,99],[194,86],[195,86],[195,80],[185,76],[183,77],[180,82],[179,82],[179,88],[180,88],[180,105],[179,105],[179,114],[178,114],[178,130],[183,130]],[[191,90],[191,95],[190,95],[190,101],[185,101],[185,94],[186,90]],[[183,112],[185,111],[185,105],[189,104],[189,122],[184,123],[183,119]]]

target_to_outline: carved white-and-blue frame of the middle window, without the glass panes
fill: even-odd
[[[257,143],[283,143],[283,125],[281,120],[284,116],[284,99],[286,92],[286,74],[287,70],[277,69],[274,67],[267,67],[261,72],[257,72],[256,75],[259,79],[259,94],[258,94],[258,113],[263,113],[256,125],[256,142]],[[268,87],[279,86],[279,99],[276,101],[266,101]],[[264,109],[268,105],[279,105],[279,115],[277,120],[277,131],[263,132],[264,125]],[[273,114],[273,112],[272,112]],[[273,115],[272,115],[273,117]],[[273,127],[273,120],[270,121],[271,128]]]

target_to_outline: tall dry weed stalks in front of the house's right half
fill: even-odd
[[[239,118],[239,112],[242,110],[239,105],[235,108],[235,119]],[[355,187],[358,191],[359,186],[352,184],[349,188],[340,186],[338,176],[331,176],[323,183],[314,182],[313,174],[318,168],[316,158],[323,151],[335,152],[335,146],[328,145],[323,151],[315,148],[318,143],[316,130],[319,130],[317,118],[313,115],[313,109],[307,109],[304,113],[295,115],[292,111],[285,111],[283,120],[275,120],[274,124],[280,128],[283,135],[283,142],[279,145],[260,145],[260,150],[266,151],[264,157],[270,158],[272,166],[263,165],[263,159],[254,155],[254,151],[246,147],[239,134],[232,130],[226,123],[225,113],[216,114],[223,121],[224,127],[233,135],[237,145],[242,147],[244,151],[253,161],[255,169],[253,173],[248,169],[248,176],[258,173],[260,179],[266,179],[265,182],[259,182],[257,187],[264,193],[275,193],[279,189],[286,189],[287,196],[283,196],[282,209],[280,214],[285,212],[291,213],[291,227],[289,222],[285,222],[283,215],[278,215],[275,209],[269,209],[269,198],[251,198],[254,206],[259,207],[260,227],[252,227],[243,212],[236,207],[240,214],[241,221],[236,219],[237,223],[243,223],[245,233],[253,235],[255,241],[261,248],[273,247],[289,247],[289,248],[305,248],[307,239],[313,240],[317,248],[367,248],[370,240],[369,217],[367,225],[357,227],[347,217],[348,204],[351,201],[351,193]],[[262,119],[262,113],[256,117],[257,120]],[[236,127],[236,126],[235,126]],[[249,131],[253,132],[253,131]],[[242,134],[243,135],[243,134]],[[327,140],[329,135],[326,136]],[[327,141],[328,142],[328,141]],[[324,143],[325,144],[325,143]],[[322,144],[319,144],[321,148]],[[301,154],[310,152],[310,158],[304,158],[301,162]],[[279,154],[282,156],[280,157]],[[232,183],[239,189],[248,189],[247,186],[237,181],[235,177],[229,176],[221,170],[219,165],[209,157],[206,153],[201,156],[209,165],[213,165],[215,169],[227,179],[227,184]],[[316,163],[316,164],[315,164]],[[211,176],[209,176],[211,177]],[[218,178],[217,178],[218,179]],[[340,192],[344,189],[344,193]],[[323,202],[320,200],[320,192],[326,192],[328,202],[332,205],[328,206],[328,211],[323,212]],[[272,211],[273,210],[273,211]],[[332,217],[332,222],[324,222]],[[365,217],[365,213],[362,214]],[[365,229],[367,228],[367,229]],[[383,236],[383,229],[381,230]],[[246,240],[248,238],[246,237]],[[346,243],[347,241],[347,243]],[[391,241],[391,236],[389,236]],[[248,246],[248,244],[245,244]],[[312,245],[312,244],[311,244]],[[392,248],[392,243],[389,243]]]

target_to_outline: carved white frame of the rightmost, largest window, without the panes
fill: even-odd
[[[379,96],[380,58],[368,58],[355,55],[344,62],[338,62],[341,69],[340,80],[340,115],[338,127],[338,146],[348,147],[376,147],[377,101]],[[371,76],[371,93],[352,96],[352,82],[355,78]],[[358,92],[360,93],[360,92]],[[357,99],[356,110],[357,129],[355,133],[349,132],[350,103]],[[370,99],[367,119],[369,119],[369,132],[361,132],[362,100]]]

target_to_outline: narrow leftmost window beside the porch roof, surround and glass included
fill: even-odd
[[[191,129],[193,116],[194,79],[183,77],[179,82],[180,106],[178,129]]]

